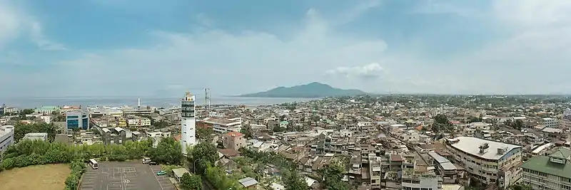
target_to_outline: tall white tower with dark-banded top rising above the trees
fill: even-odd
[[[186,156],[187,147],[196,144],[196,105],[194,95],[187,92],[181,100],[181,146]]]

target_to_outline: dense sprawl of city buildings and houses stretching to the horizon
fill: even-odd
[[[100,166],[148,157],[147,164],[161,164],[160,177],[172,179],[163,189],[571,187],[567,97],[387,95],[196,106],[187,93],[181,102],[4,112],[0,169],[33,165],[18,163],[25,162],[18,161],[26,155],[17,149],[22,143],[51,142],[86,149],[77,158]],[[97,189],[86,174],[74,185]]]

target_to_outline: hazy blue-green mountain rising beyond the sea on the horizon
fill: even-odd
[[[261,93],[251,93],[245,95],[238,95],[238,97],[302,97],[302,98],[315,98],[315,97],[333,97],[333,96],[353,96],[365,95],[361,90],[343,90],[333,88],[330,85],[323,83],[313,82],[306,85],[296,85],[293,87],[278,87]]]

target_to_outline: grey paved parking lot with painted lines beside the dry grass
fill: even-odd
[[[156,176],[161,166],[140,162],[99,162],[99,169],[88,167],[81,179],[81,190],[174,190],[168,176]]]

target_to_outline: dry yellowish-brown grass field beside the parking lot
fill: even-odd
[[[0,190],[44,189],[61,190],[71,170],[68,164],[50,164],[14,168],[0,172]]]

